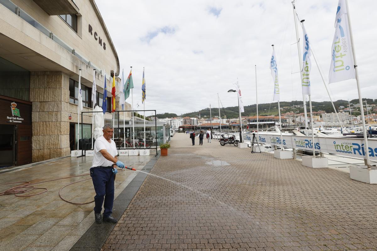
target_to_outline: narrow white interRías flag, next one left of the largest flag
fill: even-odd
[[[311,70],[311,48],[308,38],[308,33],[305,30],[304,24],[302,23],[302,31],[304,35],[303,42],[303,56],[302,56],[302,94],[310,95],[310,70]]]

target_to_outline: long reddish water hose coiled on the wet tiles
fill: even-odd
[[[132,167],[127,167],[126,166],[126,169],[129,169],[129,170],[132,170],[132,171],[136,171],[135,168],[132,168]],[[123,172],[122,169],[117,169],[119,172]],[[2,195],[11,195],[11,194],[14,194],[15,196],[17,197],[31,197],[31,196],[35,196],[35,195],[40,195],[42,193],[45,193],[48,191],[47,188],[44,188],[44,187],[35,187],[33,185],[35,184],[40,184],[40,183],[45,183],[45,182],[49,182],[49,181],[56,181],[56,180],[63,180],[63,179],[69,179],[69,178],[75,178],[75,177],[80,177],[80,176],[85,176],[85,175],[90,175],[90,173],[86,173],[86,174],[80,174],[80,175],[75,175],[75,176],[68,176],[68,177],[64,177],[64,178],[57,178],[57,179],[53,179],[53,180],[45,180],[45,181],[40,181],[40,182],[36,182],[36,183],[30,183],[28,181],[19,181],[19,182],[11,182],[11,183],[4,183],[4,184],[0,184],[0,186],[5,186],[5,185],[9,185],[9,184],[18,184],[18,183],[25,183],[21,186],[14,186],[14,187],[11,187],[7,190],[5,190],[4,192],[0,192],[0,196]],[[64,187],[67,187],[69,185],[72,185],[72,184],[75,184],[75,183],[78,183],[78,182],[81,182],[81,181],[86,181],[86,180],[90,180],[92,178],[87,178],[87,179],[84,179],[84,180],[79,180],[79,181],[74,181],[72,183],[69,183],[67,185],[65,185]],[[90,204],[93,201],[90,201],[90,202],[85,202],[85,203],[77,203],[77,202],[72,202],[72,201],[69,201],[67,199],[64,199],[63,196],[61,195],[61,190],[64,189],[64,187],[62,187],[60,190],[59,190],[59,197],[60,199],[62,199],[63,201],[65,202],[68,202],[70,204],[75,204],[75,205],[86,205],[86,204]],[[22,195],[23,193],[26,193],[26,192],[30,192],[31,190],[34,190],[34,189],[43,189],[42,192],[39,192],[39,193],[34,193],[32,195]]]

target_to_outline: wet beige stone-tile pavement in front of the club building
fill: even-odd
[[[141,170],[152,156],[119,157],[126,165]],[[30,164],[2,170],[0,184],[29,181],[31,183],[89,174],[92,157],[60,158],[54,161]],[[119,172],[115,180],[115,197],[135,178],[136,172]],[[58,192],[61,187],[77,178],[51,181],[35,185],[48,189],[46,193],[32,197],[0,196],[0,250],[6,251],[66,251],[69,250],[94,223],[94,203],[73,205],[62,201]],[[22,183],[20,183],[22,184]],[[0,186],[4,191],[17,185]],[[24,195],[42,190],[33,190]],[[90,180],[72,184],[62,190],[63,198],[74,202],[92,201],[95,195]],[[114,207],[116,210],[117,208]],[[123,211],[122,211],[123,212]]]

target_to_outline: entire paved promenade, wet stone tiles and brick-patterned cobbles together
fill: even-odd
[[[59,198],[61,187],[87,176],[42,183],[49,191],[37,196],[0,196],[0,250],[377,250],[377,186],[250,148],[196,141],[192,146],[178,133],[168,156],[120,157],[149,175],[117,174],[117,224],[95,224],[93,204]],[[15,168],[0,174],[0,183],[83,174],[91,161],[67,157]],[[63,191],[77,202],[94,196],[90,180]]]

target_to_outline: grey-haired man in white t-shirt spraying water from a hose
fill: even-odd
[[[116,167],[125,168],[124,163],[116,157],[115,142],[112,140],[114,128],[110,123],[103,126],[103,135],[94,143],[94,155],[90,176],[96,195],[94,196],[94,218],[96,223],[101,223],[102,203],[103,221],[116,223],[118,220],[111,216],[114,202],[114,180],[118,172]],[[115,167],[114,167],[115,166]]]

